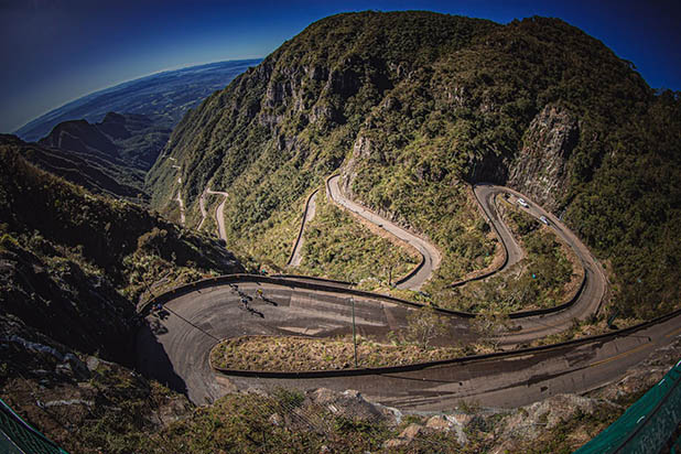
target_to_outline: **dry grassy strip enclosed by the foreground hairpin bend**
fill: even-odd
[[[359,337],[358,367],[388,367],[461,356],[458,347],[420,348],[387,345]],[[354,368],[352,337],[312,338],[241,336],[223,340],[210,352],[214,366],[242,370],[303,371]]]

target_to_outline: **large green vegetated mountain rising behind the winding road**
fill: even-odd
[[[484,251],[466,239],[467,185],[507,184],[564,214],[621,313],[650,316],[681,298],[680,104],[558,19],[338,14],[187,112],[147,183],[162,212],[180,191],[195,224],[204,188],[227,191],[230,247],[283,268],[302,201],[339,171],[348,195],[441,248],[441,282]]]

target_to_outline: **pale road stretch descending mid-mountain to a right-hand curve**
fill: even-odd
[[[397,224],[380,217],[379,215],[345,197],[345,195],[343,195],[343,193],[340,192],[340,187],[338,187],[338,175],[328,179],[328,196],[332,198],[333,202],[361,216],[369,223],[376,224],[377,226],[381,227],[382,229],[385,229],[392,236],[401,239],[402,241],[408,242],[409,245],[413,246],[419,251],[419,253],[421,253],[421,257],[423,258],[423,266],[420,267],[415,273],[410,275],[409,279],[402,281],[400,284],[397,285],[398,289],[419,290],[421,285],[423,285],[423,283],[431,278],[433,271],[440,268],[441,257],[437,248],[435,248],[435,246],[431,245],[430,242],[423,240],[422,238],[413,235],[412,233],[406,230],[404,228],[398,226]]]

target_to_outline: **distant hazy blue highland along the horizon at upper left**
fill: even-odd
[[[61,122],[79,119],[98,122],[111,111],[158,117],[159,126],[172,129],[188,109],[259,62],[210,63],[126,82],[71,101],[30,121],[14,133],[32,142],[45,137]]]

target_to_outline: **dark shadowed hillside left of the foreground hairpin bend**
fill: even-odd
[[[0,145],[0,306],[8,320],[128,364],[138,299],[241,269],[216,241],[40,171],[13,145]]]

